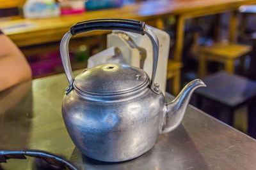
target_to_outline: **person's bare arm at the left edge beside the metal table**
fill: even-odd
[[[0,32],[0,91],[31,80],[31,68],[19,48]]]

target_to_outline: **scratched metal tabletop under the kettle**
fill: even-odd
[[[189,106],[182,124],[161,134],[136,159],[106,163],[81,155],[61,115],[65,74],[0,92],[0,150],[36,149],[66,157],[80,169],[255,169],[256,141]],[[172,99],[167,95],[166,100]],[[33,169],[33,159],[8,160],[3,169]]]

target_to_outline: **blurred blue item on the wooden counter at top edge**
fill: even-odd
[[[108,8],[119,8],[123,6],[123,4],[123,0],[89,0],[86,1],[85,6],[87,11],[93,11]]]

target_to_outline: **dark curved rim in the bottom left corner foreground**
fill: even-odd
[[[58,169],[65,169],[68,167],[70,170],[77,170],[72,164],[67,162],[67,160],[61,159],[56,155],[42,151],[0,151],[0,163],[7,162],[7,159],[26,159],[26,156],[35,157],[38,159],[44,159],[49,166],[58,167]]]

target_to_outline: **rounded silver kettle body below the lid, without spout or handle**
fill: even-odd
[[[134,159],[150,150],[161,131],[163,110],[163,94],[148,87],[123,97],[90,97],[74,89],[62,106],[77,148],[106,162]]]

